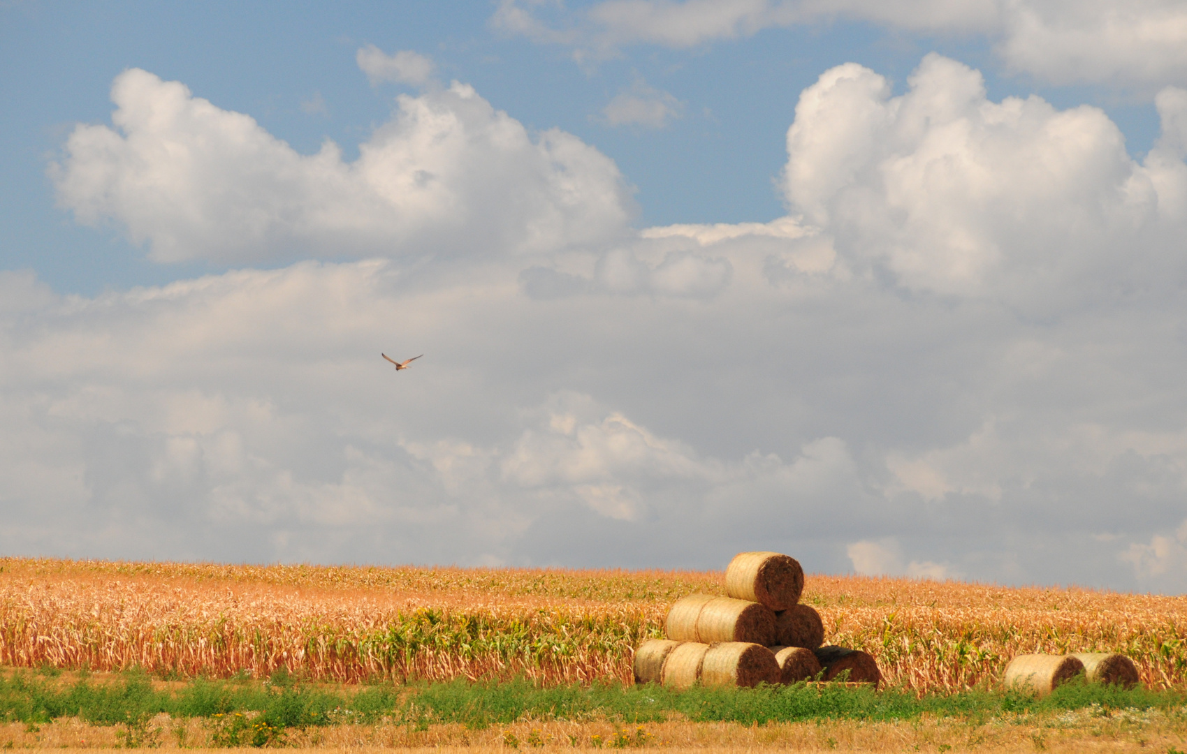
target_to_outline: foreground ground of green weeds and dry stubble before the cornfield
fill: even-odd
[[[292,678],[151,679],[7,669],[4,748],[457,750],[1167,752],[1187,746],[1176,691],[1080,684],[1045,699],[992,691],[398,685]]]

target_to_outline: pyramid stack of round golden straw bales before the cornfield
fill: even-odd
[[[800,605],[804,569],[779,552],[740,552],[725,569],[726,596],[692,594],[665,621],[667,639],[635,652],[635,682],[686,689],[795,683],[821,676],[881,680],[865,652],[821,647],[820,615]]]

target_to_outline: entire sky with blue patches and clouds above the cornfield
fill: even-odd
[[[1187,590],[1187,4],[8,0],[0,107],[0,552]]]

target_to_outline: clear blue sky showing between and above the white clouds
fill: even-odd
[[[564,19],[582,7],[552,15]],[[578,64],[567,46],[501,31],[491,23],[495,9],[481,2],[445,12],[436,2],[9,4],[0,30],[7,72],[0,96],[14,119],[2,132],[2,211],[15,232],[4,242],[5,268],[31,268],[58,290],[88,294],[199,271],[145,264],[142,249],[119,234],[80,230],[53,205],[47,156],[74,123],[109,117],[112,79],[127,68],[180,81],[196,96],[246,113],[298,152],[313,153],[332,139],[356,155],[358,142],[388,117],[393,96],[414,88],[373,87],[355,51],[366,44],[413,50],[431,57],[443,79],[472,84],[528,128],[561,128],[611,156],[637,188],[642,225],[782,215],[772,181],[796,98],[839,63],[870,66],[901,90],[922,55],[935,50],[982,70],[992,100],[1034,92],[1062,107],[1104,108],[1132,154],[1144,154],[1157,135],[1148,97],[1001,72],[991,44],[976,34],[920,37],[820,19],[691,49],[629,45]],[[684,115],[659,129],[607,124],[602,109],[636,81],[671,92]],[[306,111],[316,102],[324,109]]]

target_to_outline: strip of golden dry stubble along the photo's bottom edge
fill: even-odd
[[[159,737],[148,746],[186,750],[209,746],[204,723],[153,721]],[[78,720],[59,720],[39,727],[0,724],[0,740],[15,748],[96,750],[119,747],[116,728],[93,727]],[[1122,713],[1107,718],[1091,710],[1060,716],[970,722],[944,718],[912,722],[802,722],[747,727],[736,723],[667,722],[615,728],[609,723],[515,723],[489,730],[461,726],[432,726],[411,730],[402,726],[336,726],[293,734],[285,746],[319,750],[380,750],[391,748],[442,754],[458,752],[565,752],[611,749],[617,737],[623,748],[646,750],[750,752],[1164,752],[1182,750],[1187,743],[1181,720],[1159,713]],[[515,742],[513,747],[510,741]],[[255,750],[259,749],[243,749]]]

